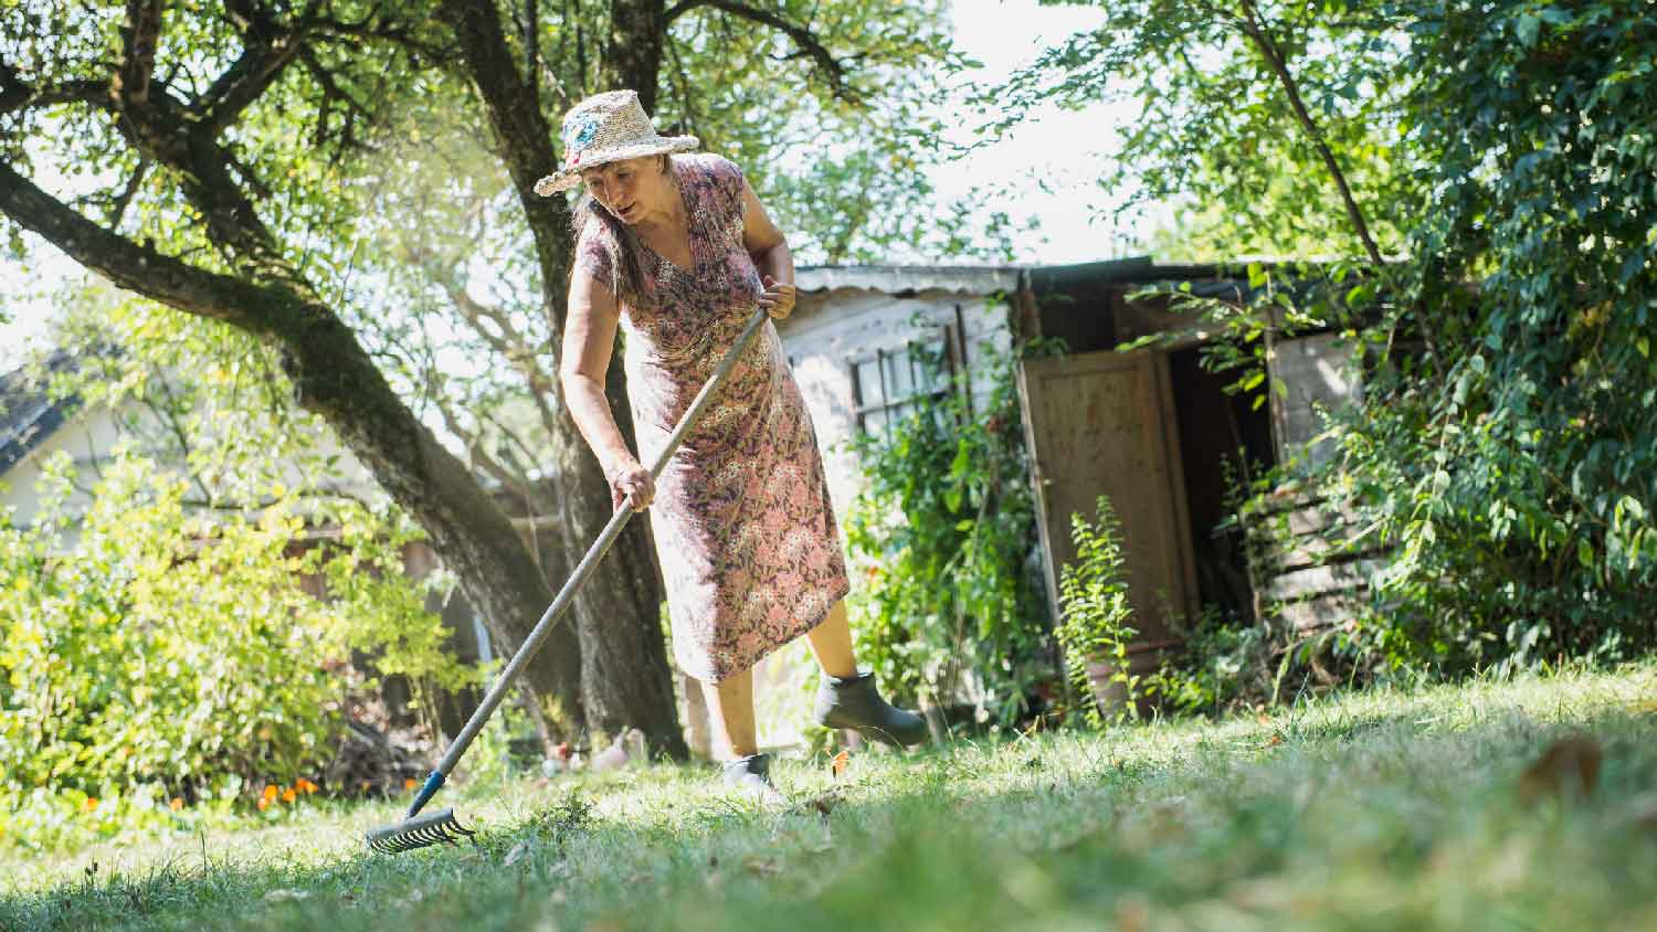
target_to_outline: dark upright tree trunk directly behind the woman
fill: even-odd
[[[535,242],[542,303],[552,333],[562,334],[573,245],[570,209],[562,197],[540,197],[532,190],[537,180],[557,169],[552,124],[542,114],[532,84],[512,65],[494,2],[446,0],[442,15],[454,26],[464,68],[484,99],[497,151],[519,192]],[[653,43],[659,60],[659,33],[640,36],[640,41]],[[631,407],[620,369],[620,364],[610,368],[605,389],[616,424],[633,445]],[[567,502],[563,541],[573,566],[610,521],[610,485],[567,409],[557,419],[550,454]],[[640,728],[651,748],[683,758],[684,735],[673,702],[659,604],[661,578],[650,533],[645,521],[633,520],[575,601],[582,704],[588,728],[606,735]]]

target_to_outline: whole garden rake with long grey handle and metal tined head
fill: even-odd
[[[703,391],[696,392],[696,399],[691,401],[689,411],[684,412],[684,417],[679,419],[679,425],[674,427],[673,435],[668,437],[668,445],[663,447],[661,455],[656,457],[655,465],[650,468],[651,478],[661,478],[661,470],[666,468],[673,452],[679,449],[679,442],[684,440],[684,435],[696,427],[698,420],[701,420],[703,411],[708,407],[713,396],[724,386],[726,377],[736,368],[742,351],[747,349],[747,344],[754,339],[754,334],[759,333],[759,328],[766,323],[767,316],[766,308],[759,308],[754,311],[754,316],[749,318],[747,326],[742,328],[742,333],[736,338],[736,344],[729,353],[726,353],[724,359],[719,361],[714,374],[703,384]],[[598,561],[610,551],[610,545],[613,545],[616,536],[621,535],[621,528],[626,526],[631,516],[633,508],[625,507],[618,508],[616,513],[611,515],[603,533],[600,533],[598,540],[593,541],[593,546],[587,550],[587,556],[583,556],[575,566],[575,573],[570,574],[563,589],[558,591],[558,596],[552,599],[552,604],[547,606],[545,613],[542,613],[540,621],[535,622],[535,629],[530,631],[529,637],[517,649],[517,654],[512,654],[512,661],[509,661],[505,669],[500,670],[500,677],[495,679],[489,694],[484,695],[477,710],[472,712],[471,720],[467,720],[466,727],[461,728],[461,735],[454,738],[454,743],[449,745],[442,760],[437,761],[437,768],[426,776],[426,783],[423,783],[419,793],[414,795],[414,803],[409,805],[409,811],[403,816],[403,821],[376,828],[368,833],[366,839],[371,849],[394,854],[399,851],[414,851],[416,848],[426,848],[431,844],[456,844],[461,838],[471,838],[476,834],[461,826],[461,823],[454,818],[454,809],[437,809],[424,816],[419,814],[419,811],[426,808],[426,803],[429,803],[432,796],[437,795],[437,790],[442,788],[449,773],[454,771],[454,765],[457,765],[461,757],[466,755],[466,748],[471,747],[472,738],[476,738],[477,732],[481,732],[484,723],[489,722],[495,707],[500,705],[502,699],[505,699],[507,690],[512,689],[512,682],[517,680],[519,674],[524,672],[524,667],[530,662],[535,652],[540,651],[542,642],[547,641],[552,629],[563,621],[570,603],[575,601],[575,593],[582,588],[582,583],[592,576],[593,568],[598,566]]]

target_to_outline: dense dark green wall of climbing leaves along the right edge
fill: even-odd
[[[1321,477],[1397,546],[1374,647],[1430,669],[1647,651],[1657,12],[1400,13],[1433,195],[1394,286],[1427,356],[1387,359]]]

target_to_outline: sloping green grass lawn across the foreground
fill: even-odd
[[[476,848],[371,856],[393,805],[312,808],[10,864],[0,929],[1657,929],[1654,699],[1644,664],[779,765],[827,816],[694,766],[459,786]],[[1594,791],[1521,801],[1572,733]]]

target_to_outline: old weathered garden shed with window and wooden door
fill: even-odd
[[[1110,498],[1122,523],[1140,639],[1135,669],[1153,669],[1203,606],[1251,617],[1254,584],[1238,533],[1216,533],[1233,477],[1273,465],[1317,432],[1317,406],[1354,396],[1357,379],[1327,334],[1279,341],[1271,404],[1228,394],[1205,371],[1210,336],[1155,285],[1241,298],[1244,276],[1213,265],[1125,258],[1080,265],[807,267],[799,308],[779,331],[812,409],[835,508],[857,495],[855,430],[880,430],[918,396],[948,389],[920,358],[966,372],[979,394],[988,353],[1057,338],[1064,353],[1019,364],[1037,493],[1042,568],[1057,604],[1059,566],[1074,560],[1072,513]],[[1167,339],[1117,348],[1150,334]],[[1244,455],[1239,457],[1238,452]]]

